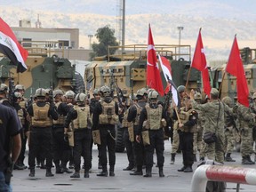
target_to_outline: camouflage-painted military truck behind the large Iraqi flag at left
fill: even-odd
[[[16,66],[7,58],[0,60],[1,83],[23,84],[26,88],[25,96],[29,98],[34,95],[36,89],[59,88],[64,92],[84,92],[84,79],[76,72],[76,66],[68,59],[60,58],[63,50],[52,48],[49,44],[60,44],[60,42],[20,42],[28,50],[26,65],[28,70],[16,73]],[[61,46],[60,46],[61,47]]]

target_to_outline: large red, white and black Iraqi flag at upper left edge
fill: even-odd
[[[25,61],[28,58],[28,51],[18,42],[12,32],[12,28],[0,18],[0,52],[6,55],[14,65],[17,66],[17,73],[27,70]]]

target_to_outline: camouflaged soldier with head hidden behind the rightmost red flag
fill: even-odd
[[[242,104],[237,104],[237,117],[240,124],[241,132],[241,155],[242,164],[255,164],[252,162],[251,155],[252,149],[252,128],[255,124],[255,115],[251,112],[250,108]]]

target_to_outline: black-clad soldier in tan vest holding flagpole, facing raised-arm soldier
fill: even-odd
[[[180,108],[178,114],[180,121],[176,122],[175,129],[178,129],[180,136],[180,149],[183,156],[183,167],[178,172],[193,172],[192,165],[194,164],[193,155],[193,136],[196,131],[197,112],[191,106],[191,101],[186,98],[184,100],[185,107]],[[175,115],[174,115],[175,116]],[[176,114],[176,119],[178,119]],[[175,118],[175,117],[173,117]]]

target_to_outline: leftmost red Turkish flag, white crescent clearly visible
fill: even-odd
[[[148,30],[147,85],[148,87],[155,89],[161,96],[164,96],[164,87],[157,63],[156,49],[150,25]]]

